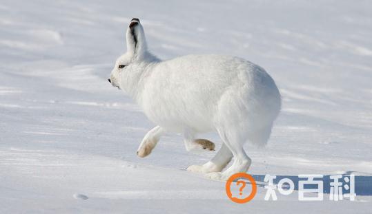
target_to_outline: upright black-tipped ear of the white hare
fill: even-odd
[[[126,30],[126,48],[127,52],[132,53],[134,57],[144,56],[147,51],[145,32],[139,19],[133,18],[130,21]]]

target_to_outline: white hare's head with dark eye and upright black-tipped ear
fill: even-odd
[[[112,86],[119,89],[121,74],[130,72],[133,69],[133,65],[138,65],[138,63],[145,61],[148,55],[144,28],[142,28],[139,19],[134,18],[130,21],[126,30],[126,48],[126,54],[117,58],[115,67],[112,69],[108,79]]]

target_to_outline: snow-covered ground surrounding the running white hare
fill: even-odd
[[[0,213],[370,213],[371,9],[371,1],[2,0]],[[252,202],[234,204],[224,182],[184,171],[214,153],[187,153],[177,135],[137,158],[153,125],[106,81],[133,17],[161,58],[241,56],[273,76],[283,109],[268,147],[246,148],[255,178],[355,173],[357,200],[299,202],[293,193],[266,202],[259,187]],[[220,146],[214,133],[203,137]]]

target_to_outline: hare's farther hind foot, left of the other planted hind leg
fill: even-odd
[[[223,143],[221,149],[219,149],[212,160],[202,165],[191,165],[190,167],[187,167],[187,170],[202,173],[222,171],[228,162],[230,162],[231,158],[233,158],[233,153],[231,153],[230,149],[228,149],[228,147]]]

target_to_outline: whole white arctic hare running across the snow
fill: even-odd
[[[223,144],[215,157],[187,169],[216,180],[246,172],[251,159],[244,143],[266,145],[280,112],[280,92],[273,78],[262,67],[233,56],[188,55],[160,61],[148,52],[139,19],[130,21],[126,46],[108,81],[124,89],[157,124],[139,145],[138,156],[148,156],[166,132],[183,133],[186,149],[193,149],[203,141],[195,140],[195,134],[217,131]],[[233,164],[221,173],[231,158]]]

